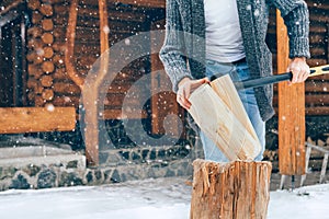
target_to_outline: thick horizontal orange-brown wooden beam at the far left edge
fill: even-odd
[[[73,107],[0,108],[0,134],[67,131],[76,127]]]

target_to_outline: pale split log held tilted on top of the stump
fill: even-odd
[[[226,105],[228,101],[231,103],[240,101],[239,97],[238,100],[236,99],[238,94],[232,94],[234,92],[237,93],[237,90],[232,85],[229,76],[224,76],[216,80],[223,80],[223,84],[231,83],[234,89],[230,89],[230,85],[220,87],[220,89],[230,94],[230,97],[222,96],[223,100],[208,84],[203,84],[191,94],[190,102],[192,106],[189,113],[228,160],[252,160],[261,151],[261,146],[259,140],[254,138],[254,135],[251,134],[253,132],[252,127],[247,126],[248,123],[246,120],[249,118],[248,116],[243,117],[245,114],[242,114],[243,118],[239,118],[232,112],[231,106],[240,107],[240,104],[229,104],[230,107]],[[241,111],[245,111],[243,106],[235,110],[235,112]]]

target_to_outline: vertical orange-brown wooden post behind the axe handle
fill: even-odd
[[[277,71],[288,66],[288,41],[277,11]],[[305,174],[305,84],[279,84],[279,166],[283,175]]]

